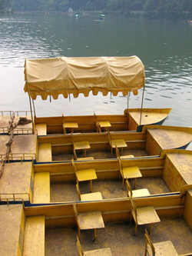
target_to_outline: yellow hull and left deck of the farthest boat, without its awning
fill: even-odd
[[[8,134],[11,123],[15,134],[31,134],[34,126],[39,136],[66,134],[71,133],[71,131],[74,133],[102,132],[106,130],[141,131],[144,125],[162,125],[170,111],[171,108],[143,108],[141,113],[140,108],[130,108],[128,111],[127,109],[124,110],[124,115],[36,117],[33,124],[29,111],[8,111],[8,113],[2,111],[0,134]]]

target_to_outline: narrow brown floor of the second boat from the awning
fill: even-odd
[[[82,151],[78,151],[78,158],[84,158]],[[124,149],[122,155],[134,155],[134,157],[147,156],[145,149]],[[52,155],[52,161],[69,161],[73,158],[72,154],[57,154]],[[86,157],[93,157],[94,159],[111,158],[111,151],[87,151]],[[116,158],[115,152],[113,152],[113,158]]]

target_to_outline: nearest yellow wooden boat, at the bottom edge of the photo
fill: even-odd
[[[151,240],[171,241],[177,255],[191,255],[192,208],[191,186],[181,193],[135,198],[137,211],[154,208],[160,221],[153,224]],[[134,236],[135,223],[131,218],[130,198],[77,202],[79,216],[101,213],[104,227],[97,229],[96,243],[92,237],[93,224],[86,218],[86,229],[81,230],[81,246],[84,251],[110,248],[112,255],[144,254],[144,229],[139,225]],[[145,214],[145,217],[148,215]],[[76,247],[78,226],[73,202],[65,204],[0,204],[1,241],[0,253],[4,255],[78,255]],[[152,221],[151,221],[152,222]],[[14,227],[14,228],[13,228]],[[96,225],[95,225],[96,227]]]

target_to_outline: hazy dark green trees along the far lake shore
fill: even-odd
[[[151,18],[190,18],[192,0],[0,0],[0,10],[18,12],[118,12]]]

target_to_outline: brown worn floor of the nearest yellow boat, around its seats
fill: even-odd
[[[95,242],[91,239],[93,230],[81,231],[81,246],[84,251],[109,247],[113,255],[144,255],[144,228],[148,226],[139,226],[134,236],[134,222],[105,224],[105,228],[97,230]],[[78,255],[77,234],[78,228],[46,229],[45,255]],[[151,240],[154,243],[172,241],[178,254],[192,251],[192,233],[183,218],[161,218],[161,222],[152,227]]]

